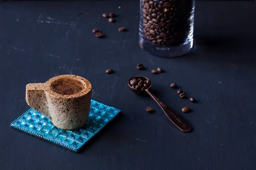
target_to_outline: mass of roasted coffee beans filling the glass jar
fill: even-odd
[[[183,44],[189,31],[193,0],[142,0],[141,25],[147,40],[172,46]]]

